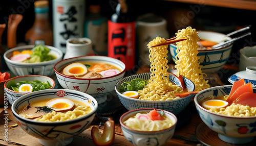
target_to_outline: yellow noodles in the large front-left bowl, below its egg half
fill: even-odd
[[[86,115],[92,111],[91,107],[88,105],[81,105],[76,107],[73,111],[67,111],[66,113],[53,111],[47,113],[41,117],[35,118],[38,121],[65,121]]]

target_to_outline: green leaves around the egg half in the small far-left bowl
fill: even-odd
[[[33,87],[33,91],[44,90],[51,87],[51,84],[48,81],[41,82],[38,80],[34,80],[34,81],[26,80],[26,81],[19,81],[18,83],[15,83],[14,81],[10,81],[10,83],[7,85],[7,88],[18,92],[18,88],[22,84],[30,84]]]

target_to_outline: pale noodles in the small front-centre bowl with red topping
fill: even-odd
[[[125,120],[123,124],[139,131],[158,131],[173,126],[173,121],[165,115],[162,116],[163,120],[138,119],[140,115],[142,114],[137,113],[134,117]]]

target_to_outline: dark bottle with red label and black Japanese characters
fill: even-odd
[[[135,66],[135,17],[125,0],[118,0],[116,13],[108,21],[108,56],[121,60],[126,70]]]

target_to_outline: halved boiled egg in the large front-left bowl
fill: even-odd
[[[69,99],[57,98],[46,103],[46,106],[53,108],[55,111],[70,110],[74,106],[74,102]]]

